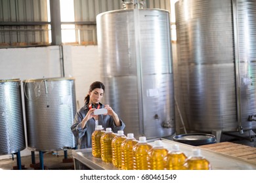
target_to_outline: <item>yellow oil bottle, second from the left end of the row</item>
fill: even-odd
[[[100,137],[101,159],[106,163],[112,163],[112,139],[115,135],[111,127],[106,128],[106,132]]]

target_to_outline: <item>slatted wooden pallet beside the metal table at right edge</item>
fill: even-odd
[[[220,142],[215,144],[207,144],[200,146],[215,152],[228,154],[230,156],[247,159],[256,163],[256,148],[251,146],[245,146],[243,144],[236,144],[232,142]]]

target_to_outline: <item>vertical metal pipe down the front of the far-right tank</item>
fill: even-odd
[[[232,0],[233,19],[234,19],[234,51],[235,51],[235,67],[236,67],[236,105],[238,112],[238,131],[243,134],[242,127],[242,108],[241,108],[241,82],[240,82],[240,59],[239,59],[239,39],[238,39],[238,15],[237,15],[237,2]]]

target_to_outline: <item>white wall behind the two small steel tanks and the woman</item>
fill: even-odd
[[[60,46],[0,49],[0,80],[19,78],[53,78],[62,76]],[[97,46],[63,46],[64,76],[75,78],[75,94],[79,107],[88,93],[91,82],[100,80]],[[22,105],[24,94],[22,87]],[[25,113],[24,125],[26,126]],[[26,129],[25,129],[26,132]],[[25,135],[26,136],[26,135]],[[21,156],[31,152],[21,151]],[[12,158],[11,154],[0,159]]]

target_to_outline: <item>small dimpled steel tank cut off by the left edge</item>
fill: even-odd
[[[26,148],[19,79],[0,80],[0,155]]]

